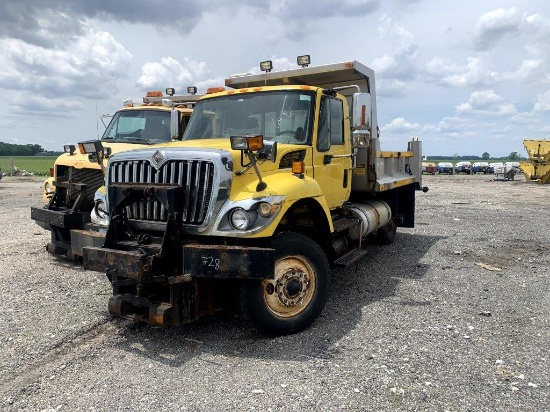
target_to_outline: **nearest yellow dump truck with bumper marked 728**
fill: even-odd
[[[331,267],[414,226],[421,142],[382,151],[374,72],[308,60],[229,77],[181,141],[110,156],[106,237],[83,255],[112,284],[111,314],[182,325],[235,287],[259,329],[298,332],[321,313]]]

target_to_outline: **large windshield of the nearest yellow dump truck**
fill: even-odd
[[[261,134],[280,143],[311,142],[313,92],[239,93],[200,100],[183,140]]]

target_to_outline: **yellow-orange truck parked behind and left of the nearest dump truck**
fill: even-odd
[[[189,123],[192,106],[199,99],[192,94],[174,95],[174,89],[148,92],[143,103],[125,100],[109,122],[101,137],[100,153],[80,153],[74,145],[65,145],[64,154],[54,164],[53,176],[43,185],[44,208],[31,209],[31,218],[51,232],[46,250],[53,255],[76,260],[82,257],[82,233],[95,229],[91,214],[94,195],[104,185],[104,169],[110,154],[147,147],[160,142],[181,140]],[[175,108],[175,109],[174,109]],[[172,111],[177,112],[178,127],[171,135]],[[94,232],[95,233],[95,230]],[[96,235],[96,243],[102,236]]]

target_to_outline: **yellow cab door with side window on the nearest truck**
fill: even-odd
[[[349,115],[336,96],[321,96],[317,139],[313,150],[313,177],[321,186],[330,209],[341,206],[351,193],[351,141]],[[346,141],[348,140],[348,141]]]

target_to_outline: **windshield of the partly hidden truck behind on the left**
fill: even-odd
[[[113,116],[101,140],[124,143],[170,141],[170,112],[122,110]]]

